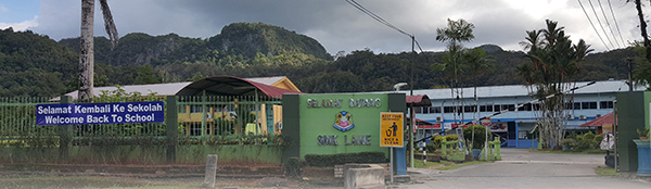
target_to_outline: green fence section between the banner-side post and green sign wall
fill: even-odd
[[[269,100],[269,99],[266,99]],[[268,135],[278,131],[280,101],[255,97],[179,97],[180,136]],[[276,110],[275,110],[276,109]],[[275,113],[276,112],[276,113]]]

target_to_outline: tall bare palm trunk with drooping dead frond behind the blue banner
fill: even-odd
[[[106,0],[100,0],[100,4],[104,15],[104,27],[108,34],[112,48],[115,48],[119,38],[113,22],[113,15],[111,15]],[[93,18],[94,0],[81,0],[81,51],[79,54],[79,92],[77,93],[77,100],[80,102],[90,102],[93,97]]]

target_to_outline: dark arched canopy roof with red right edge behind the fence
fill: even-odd
[[[206,77],[183,87],[177,96],[266,96],[282,98],[283,93],[303,93],[233,76]]]

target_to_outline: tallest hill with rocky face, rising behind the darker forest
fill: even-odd
[[[79,52],[79,38],[62,39],[59,43]],[[94,38],[95,61],[108,65],[163,65],[183,62],[219,62],[221,59],[255,59],[280,54],[311,54],[331,60],[315,39],[282,27],[264,23],[233,23],[221,34],[208,39],[180,37],[176,34],[150,36],[127,34],[111,50],[108,39]]]

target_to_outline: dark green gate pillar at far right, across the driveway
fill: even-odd
[[[638,139],[637,129],[649,127],[648,92],[618,92],[617,104],[617,153],[620,154],[621,172],[637,172],[637,146],[633,139]]]

